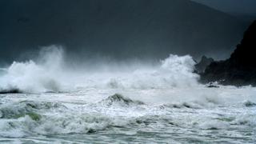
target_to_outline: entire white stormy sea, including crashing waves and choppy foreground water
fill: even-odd
[[[0,142],[255,142],[255,88],[208,88],[189,55],[150,63],[47,46],[1,68]]]

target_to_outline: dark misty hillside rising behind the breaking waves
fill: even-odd
[[[226,54],[238,19],[189,0],[2,0],[0,58],[62,44],[73,54],[164,58]]]

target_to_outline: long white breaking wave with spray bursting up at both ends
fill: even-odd
[[[193,73],[195,62],[190,56],[170,54],[158,65],[133,70],[127,70],[128,64],[118,67],[119,70],[106,64],[108,70],[98,68],[89,72],[86,68],[70,70],[65,64],[61,46],[44,47],[36,60],[13,62],[2,69],[5,72],[0,76],[0,93],[61,92],[78,87],[145,90],[198,85],[198,75]]]

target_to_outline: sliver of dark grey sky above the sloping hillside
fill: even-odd
[[[224,12],[256,14],[256,0],[192,0]]]

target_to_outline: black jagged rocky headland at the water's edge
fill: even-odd
[[[256,21],[246,30],[242,42],[225,61],[212,62],[201,74],[202,82],[256,86]]]

